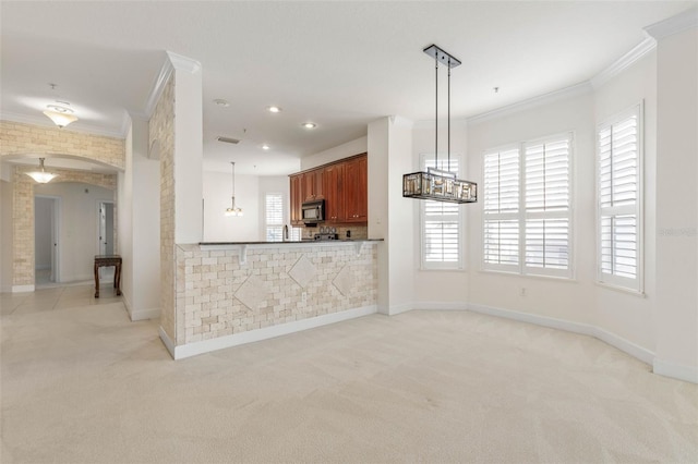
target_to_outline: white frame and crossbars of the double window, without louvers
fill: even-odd
[[[530,211],[526,208],[526,167],[527,167],[527,156],[526,148],[528,146],[534,146],[539,144],[550,144],[555,141],[567,139],[569,146],[569,156],[568,156],[568,207],[565,210],[559,211]],[[552,278],[562,278],[562,279],[573,279],[575,273],[575,253],[574,253],[574,166],[575,166],[575,133],[573,131],[558,133],[549,135],[545,137],[540,137],[535,139],[530,139],[526,142],[520,142],[517,144],[509,144],[505,146],[501,146],[497,148],[489,149],[484,151],[482,157],[482,179],[483,179],[483,198],[486,195],[486,185],[485,185],[485,158],[493,154],[502,154],[505,151],[518,150],[518,208],[516,211],[505,211],[505,212],[486,212],[483,208],[482,213],[482,257],[481,257],[481,267],[485,271],[495,271],[495,272],[508,272],[516,273],[520,276],[531,276],[531,277],[552,277]],[[527,251],[526,251],[526,225],[527,220],[535,220],[535,219],[544,219],[544,220],[555,220],[555,219],[567,219],[567,268],[565,269],[555,269],[549,267],[538,267],[538,266],[527,266]],[[518,261],[517,264],[493,264],[486,261],[485,254],[485,233],[489,221],[518,221]]]

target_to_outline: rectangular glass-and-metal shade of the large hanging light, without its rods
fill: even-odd
[[[478,184],[456,179],[447,171],[430,169],[402,175],[402,196],[447,203],[476,203]]]

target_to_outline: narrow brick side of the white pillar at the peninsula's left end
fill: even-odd
[[[160,157],[160,326],[177,340],[174,313],[174,74],[163,89],[149,121],[149,144]]]

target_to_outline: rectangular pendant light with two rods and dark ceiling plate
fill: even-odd
[[[434,58],[436,64],[436,114],[435,121],[435,168],[426,172],[412,172],[402,175],[402,196],[406,198],[431,199],[447,203],[476,203],[478,185],[474,182],[456,179],[450,172],[450,69],[460,65],[460,61],[435,45],[426,47],[424,53]],[[438,169],[438,63],[448,69],[448,162],[446,170]]]

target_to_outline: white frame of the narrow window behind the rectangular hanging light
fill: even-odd
[[[428,161],[432,161],[430,164],[433,166],[433,161],[435,160],[434,154],[421,154],[420,155],[420,168],[423,171],[426,171]],[[440,154],[438,156],[438,164],[442,170],[447,170],[447,160],[448,157],[445,154]],[[450,161],[456,161],[458,170],[454,170],[456,172],[456,176],[461,179],[461,169],[462,169],[462,157],[460,155],[450,155]],[[464,211],[462,205],[447,203],[447,205],[453,205],[458,208],[458,217],[456,219],[458,223],[458,259],[456,261],[434,261],[426,259],[426,202],[434,202],[423,199],[420,200],[420,269],[421,270],[464,270],[465,268],[465,227],[464,227]],[[444,216],[443,219],[446,219],[447,216]],[[434,218],[431,218],[434,220]]]

